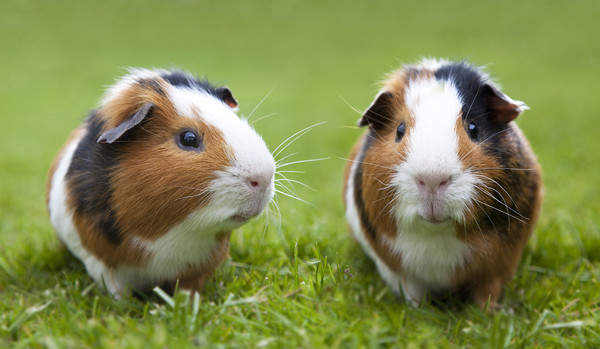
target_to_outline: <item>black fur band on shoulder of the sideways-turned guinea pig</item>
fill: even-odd
[[[113,244],[123,240],[111,208],[111,179],[119,162],[116,144],[98,144],[103,122],[93,111],[66,174],[75,199],[75,214],[91,217],[97,231]]]

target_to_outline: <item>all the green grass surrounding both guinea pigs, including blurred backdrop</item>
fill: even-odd
[[[0,4],[0,347],[600,347],[600,3],[596,1],[17,1]],[[348,237],[352,126],[402,62],[467,58],[532,109],[519,119],[546,201],[503,309],[413,309]],[[125,66],[225,83],[314,206],[234,232],[200,302],[115,301],[62,249],[46,171]],[[348,105],[349,104],[349,105]]]

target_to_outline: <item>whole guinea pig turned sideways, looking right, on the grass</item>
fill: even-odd
[[[50,221],[116,298],[200,291],[272,199],[274,159],[237,105],[182,71],[131,69],[54,159]]]

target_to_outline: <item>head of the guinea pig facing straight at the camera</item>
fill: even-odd
[[[465,62],[394,72],[359,120],[370,128],[365,201],[378,217],[431,229],[506,211],[514,183],[502,169],[518,166],[511,121],[525,109]]]

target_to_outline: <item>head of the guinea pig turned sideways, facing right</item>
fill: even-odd
[[[157,236],[192,219],[225,231],[264,210],[275,162],[236,109],[229,89],[181,71],[132,69],[108,90],[89,122],[99,156],[115,159],[111,207],[122,230]]]

